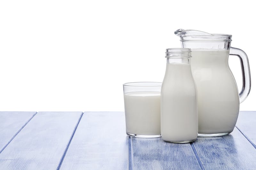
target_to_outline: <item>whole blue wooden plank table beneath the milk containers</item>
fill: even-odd
[[[0,112],[5,169],[256,169],[256,112],[189,144],[128,137],[124,112]]]

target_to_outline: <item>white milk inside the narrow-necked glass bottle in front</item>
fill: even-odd
[[[196,87],[189,64],[167,63],[161,89],[164,141],[195,140],[198,132]]]

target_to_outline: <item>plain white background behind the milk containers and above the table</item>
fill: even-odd
[[[217,0],[1,1],[0,110],[124,111],[122,84],[162,82],[179,28],[233,35],[252,76],[240,110],[256,110],[255,6]]]

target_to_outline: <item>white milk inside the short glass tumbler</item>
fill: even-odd
[[[126,132],[160,135],[160,92],[124,93]]]

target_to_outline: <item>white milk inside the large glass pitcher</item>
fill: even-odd
[[[239,95],[228,66],[228,54],[229,50],[192,50],[191,69],[198,99],[198,133],[230,133],[235,127]]]

